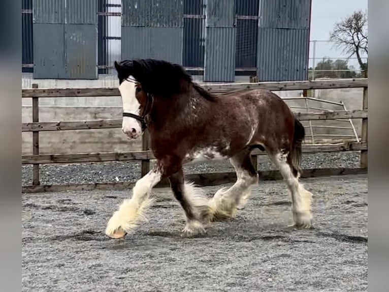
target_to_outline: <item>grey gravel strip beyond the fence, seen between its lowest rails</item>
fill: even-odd
[[[359,167],[360,152],[334,152],[305,154],[302,157],[303,169]],[[44,164],[41,165],[41,184],[88,184],[132,182],[140,179],[140,162],[106,162],[82,164]],[[258,169],[275,169],[267,156],[258,157]],[[233,166],[228,162],[212,162],[185,166],[185,173],[230,172]],[[117,178],[117,179],[116,179]],[[33,166],[22,166],[22,185],[33,182]]]

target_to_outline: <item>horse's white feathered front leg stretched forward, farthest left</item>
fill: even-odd
[[[137,227],[139,221],[144,219],[144,213],[150,205],[150,191],[161,178],[160,167],[156,165],[154,169],[137,181],[131,199],[125,199],[108,221],[107,236],[114,239],[122,238]]]

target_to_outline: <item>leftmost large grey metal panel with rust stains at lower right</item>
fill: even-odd
[[[34,78],[96,79],[98,3],[35,0],[33,6]]]

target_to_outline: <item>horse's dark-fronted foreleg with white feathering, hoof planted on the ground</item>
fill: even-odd
[[[186,225],[182,230],[186,236],[196,236],[205,233],[202,221],[208,216],[208,198],[200,188],[184,182],[181,170],[169,177],[175,198],[180,202],[186,215]]]

